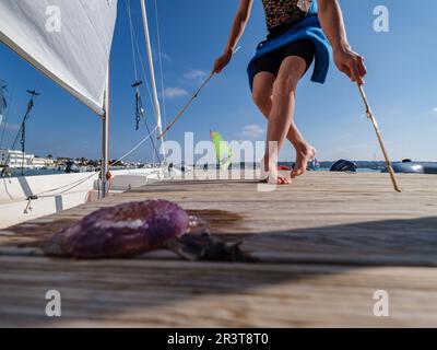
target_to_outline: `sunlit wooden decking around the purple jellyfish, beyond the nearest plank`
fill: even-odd
[[[434,180],[402,176],[404,194],[393,192],[383,174],[308,174],[274,192],[258,192],[250,180],[157,183],[10,229],[0,233],[0,252],[38,255],[40,240],[97,208],[160,197],[209,221],[213,234],[243,241],[267,262],[436,266]]]

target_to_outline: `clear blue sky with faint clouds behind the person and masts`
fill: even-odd
[[[141,33],[139,3],[131,2],[135,27]],[[437,2],[428,1],[426,11],[411,1],[344,0],[341,3],[350,42],[366,57],[369,70],[366,92],[392,158],[437,161],[437,22],[434,18]],[[147,4],[156,50],[153,1]],[[389,33],[376,33],[373,28],[374,8],[379,4],[390,11]],[[158,0],[167,120],[184,105],[188,94],[196,91],[222,52],[237,5],[237,0]],[[267,124],[251,102],[246,75],[255,47],[264,36],[261,0],[255,0],[241,49],[175,126],[169,139],[181,142],[185,131],[193,131],[196,141],[206,140],[210,129],[221,131],[229,141],[264,139]],[[144,47],[142,42],[140,45]],[[51,153],[99,158],[99,118],[4,46],[0,47],[0,79],[9,82],[13,97],[5,145],[10,145],[24,113],[26,89],[37,89],[43,95],[28,124],[28,152],[42,156]],[[122,155],[145,135],[144,127],[134,131],[130,88],[133,80],[128,16],[125,1],[119,0],[111,55],[113,159]],[[143,95],[147,95],[145,91]],[[144,102],[152,120],[151,102],[149,98]],[[381,159],[355,85],[333,66],[323,85],[311,83],[309,74],[302,81],[296,108],[296,122],[318,149],[320,160],[373,160],[375,154]],[[147,143],[130,160],[147,161],[151,156]],[[292,149],[286,147],[281,159],[293,158]]]

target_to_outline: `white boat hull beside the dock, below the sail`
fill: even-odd
[[[111,191],[164,178],[162,170],[113,171]],[[35,199],[31,199],[36,196]],[[60,174],[0,179],[0,229],[50,215],[98,199],[98,174]]]

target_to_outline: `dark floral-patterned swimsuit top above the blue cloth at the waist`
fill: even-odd
[[[262,0],[270,34],[281,33],[305,19],[314,0]]]

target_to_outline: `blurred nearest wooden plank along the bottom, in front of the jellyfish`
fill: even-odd
[[[0,271],[0,326],[437,326],[435,269],[2,257]],[[59,319],[44,315],[49,289]],[[387,318],[373,314],[381,289]]]

